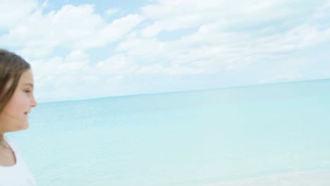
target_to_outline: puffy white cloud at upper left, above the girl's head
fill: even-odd
[[[102,18],[93,11],[90,5],[66,5],[46,15],[42,11],[35,11],[0,39],[9,46],[70,44],[77,39],[89,37],[104,24]]]

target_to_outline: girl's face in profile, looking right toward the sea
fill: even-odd
[[[13,97],[0,113],[0,133],[24,130],[29,127],[27,115],[37,106],[33,95],[33,76],[31,70],[25,70],[20,76]]]

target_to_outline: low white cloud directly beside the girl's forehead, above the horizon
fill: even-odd
[[[35,76],[36,97],[40,101],[59,101],[104,97],[116,89],[120,75],[95,69],[85,51],[72,51],[65,58],[30,61]]]

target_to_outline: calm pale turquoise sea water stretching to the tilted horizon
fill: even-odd
[[[38,185],[205,185],[330,170],[330,80],[39,104]]]

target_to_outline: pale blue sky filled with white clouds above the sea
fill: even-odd
[[[0,0],[38,102],[330,78],[330,0]]]

